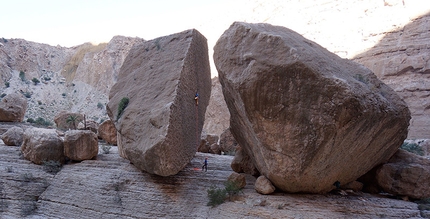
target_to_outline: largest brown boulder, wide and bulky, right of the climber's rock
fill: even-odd
[[[284,27],[234,23],[214,47],[231,131],[287,192],[328,192],[388,160],[410,112],[367,68]]]

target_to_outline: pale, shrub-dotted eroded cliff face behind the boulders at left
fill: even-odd
[[[41,117],[52,122],[66,110],[100,122],[107,119],[105,104],[118,70],[138,41],[143,39],[116,36],[107,44],[66,48],[0,39],[0,92],[27,97],[24,120]]]

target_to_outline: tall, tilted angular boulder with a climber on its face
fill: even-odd
[[[198,31],[135,44],[106,107],[120,155],[149,173],[178,173],[197,150],[210,91],[207,42]],[[124,98],[128,104],[118,116]]]

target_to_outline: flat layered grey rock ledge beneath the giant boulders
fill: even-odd
[[[101,151],[101,150],[100,150]],[[204,157],[208,172],[201,171]],[[233,157],[197,153],[175,176],[138,170],[112,147],[97,160],[65,165],[56,175],[0,144],[0,218],[422,218],[413,202],[366,193],[260,195],[246,175],[243,194],[207,206],[207,189],[222,187]],[[200,170],[196,170],[196,169]],[[427,215],[429,215],[427,213]]]

